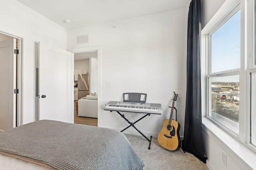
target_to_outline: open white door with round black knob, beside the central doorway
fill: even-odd
[[[74,54],[39,43],[39,120],[74,123]]]

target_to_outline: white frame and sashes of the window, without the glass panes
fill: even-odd
[[[232,4],[230,2],[226,4]],[[244,144],[250,150],[256,152],[256,146],[251,144],[250,133],[252,133],[251,125],[251,97],[252,92],[250,90],[250,74],[256,72],[256,0],[237,0],[233,6],[227,6],[228,10],[224,12],[222,9],[218,15],[214,16],[214,20],[207,24],[202,30],[202,62],[205,62],[205,67],[202,68],[202,90],[205,91],[202,94],[205,102],[202,101],[204,106],[202,111],[205,111],[203,117],[209,119],[212,123],[218,125],[221,129],[226,131],[232,137],[235,137],[240,143]],[[241,10],[241,39],[240,39],[240,69],[225,70],[222,72],[211,73],[210,72],[210,36],[217,29],[219,29],[229,18],[231,18],[238,10]],[[207,31],[208,30],[208,31]],[[205,57],[205,58],[204,58]],[[208,116],[211,111],[211,83],[209,78],[216,76],[229,76],[235,75],[239,72],[239,92],[240,92],[240,103],[239,103],[239,133],[233,133],[223,125],[214,121],[214,119]],[[256,84],[254,85],[256,86]],[[256,96],[254,101],[256,101]],[[209,103],[210,102],[210,103]],[[256,110],[256,108],[255,108]],[[256,113],[254,113],[256,117]],[[256,120],[255,120],[256,122]],[[254,129],[256,132],[256,129]]]

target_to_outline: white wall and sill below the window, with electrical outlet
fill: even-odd
[[[253,150],[206,117],[203,117],[203,123],[206,165],[210,170],[255,170],[256,153]],[[222,152],[226,154],[226,165],[222,162]]]

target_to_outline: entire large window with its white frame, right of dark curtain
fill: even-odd
[[[244,4],[204,34],[206,115],[256,150],[256,0]]]

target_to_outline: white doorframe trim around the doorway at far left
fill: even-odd
[[[18,50],[19,50],[19,54],[18,54],[18,61],[17,61],[17,88],[19,90],[18,95],[17,95],[17,117],[15,116],[15,122],[17,119],[17,127],[20,125],[23,125],[23,38],[10,34],[10,33],[6,33],[4,31],[0,31],[1,34],[4,35],[8,35],[10,37],[13,37],[15,39],[18,40]],[[15,60],[16,62],[16,60]],[[16,63],[15,63],[16,65]],[[13,106],[16,107],[16,106]],[[13,120],[14,121],[14,120]]]

